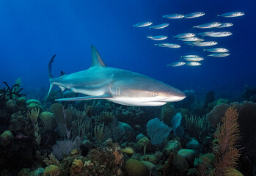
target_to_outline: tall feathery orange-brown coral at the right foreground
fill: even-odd
[[[222,117],[222,126],[216,130],[213,137],[213,153],[216,155],[213,175],[228,175],[236,166],[240,156],[238,140],[241,139],[238,112],[230,107]]]

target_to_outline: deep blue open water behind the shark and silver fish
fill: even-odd
[[[214,90],[222,98],[241,95],[246,85],[256,86],[255,10],[253,0],[216,1],[0,1],[0,81],[12,85],[21,78],[25,92],[48,89],[47,65],[56,54],[53,75],[73,73],[91,64],[90,45],[98,48],[109,67],[142,73],[180,90],[194,89],[197,95]],[[238,18],[217,14],[241,11]],[[163,14],[205,12],[200,18],[172,20]],[[133,28],[135,23],[169,23],[166,29]],[[183,32],[204,32],[192,26],[213,21],[234,26],[208,31],[230,31],[230,37],[213,38],[230,56],[206,57],[200,47],[183,45],[172,36]],[[154,46],[147,35],[169,36],[164,42],[181,48]],[[167,67],[181,55],[205,58],[199,67]],[[2,84],[0,87],[4,87]]]

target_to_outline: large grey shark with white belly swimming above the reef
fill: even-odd
[[[125,106],[162,106],[167,102],[186,98],[183,92],[161,81],[114,67],[107,67],[92,45],[92,65],[87,70],[62,74],[58,78],[51,75],[54,55],[48,63],[50,89],[54,85],[62,90],[87,96],[61,98],[56,101],[106,99]]]

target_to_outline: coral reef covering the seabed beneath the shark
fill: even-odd
[[[0,175],[256,175],[253,87],[239,102],[188,90],[161,107],[23,91],[21,80],[0,89]]]

